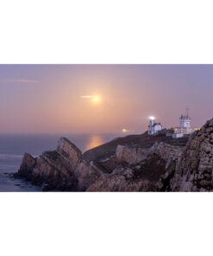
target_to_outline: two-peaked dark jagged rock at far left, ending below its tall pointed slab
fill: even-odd
[[[25,154],[18,176],[48,189],[77,190],[74,169],[81,160],[81,151],[66,138],[60,138],[57,150],[44,152],[40,157]]]

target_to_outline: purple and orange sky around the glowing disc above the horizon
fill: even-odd
[[[197,127],[212,102],[213,65],[0,65],[0,133],[142,133],[186,107]]]

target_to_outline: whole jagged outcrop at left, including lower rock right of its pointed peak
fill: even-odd
[[[85,191],[104,170],[98,163],[87,163],[78,148],[66,138],[60,138],[57,150],[44,152],[40,157],[25,154],[18,176],[45,189]]]

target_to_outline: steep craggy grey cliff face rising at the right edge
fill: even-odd
[[[171,179],[172,191],[213,191],[213,119],[190,139]]]

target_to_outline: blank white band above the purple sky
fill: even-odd
[[[1,1],[1,63],[212,63],[212,1]]]

